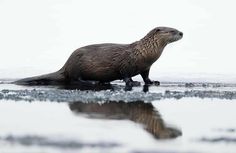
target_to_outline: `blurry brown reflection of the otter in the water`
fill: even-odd
[[[69,107],[73,112],[85,113],[90,118],[129,119],[144,125],[145,130],[158,139],[175,138],[182,134],[178,129],[166,127],[153,105],[143,101],[110,101],[103,104],[75,102],[70,103]]]

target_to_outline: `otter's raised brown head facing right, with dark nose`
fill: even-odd
[[[153,39],[158,44],[168,44],[180,40],[183,37],[183,33],[174,28],[156,27],[146,37]]]

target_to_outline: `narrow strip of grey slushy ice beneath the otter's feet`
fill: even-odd
[[[19,88],[20,89],[17,89]],[[14,89],[16,88],[16,89]],[[104,101],[137,101],[151,102],[162,99],[181,98],[216,98],[236,99],[236,84],[221,83],[162,83],[160,86],[134,87],[125,91],[123,84],[112,84],[103,87],[61,88],[59,86],[16,86],[2,84],[0,100],[13,101],[56,101],[56,102],[104,102]],[[143,92],[146,91],[146,92]]]

